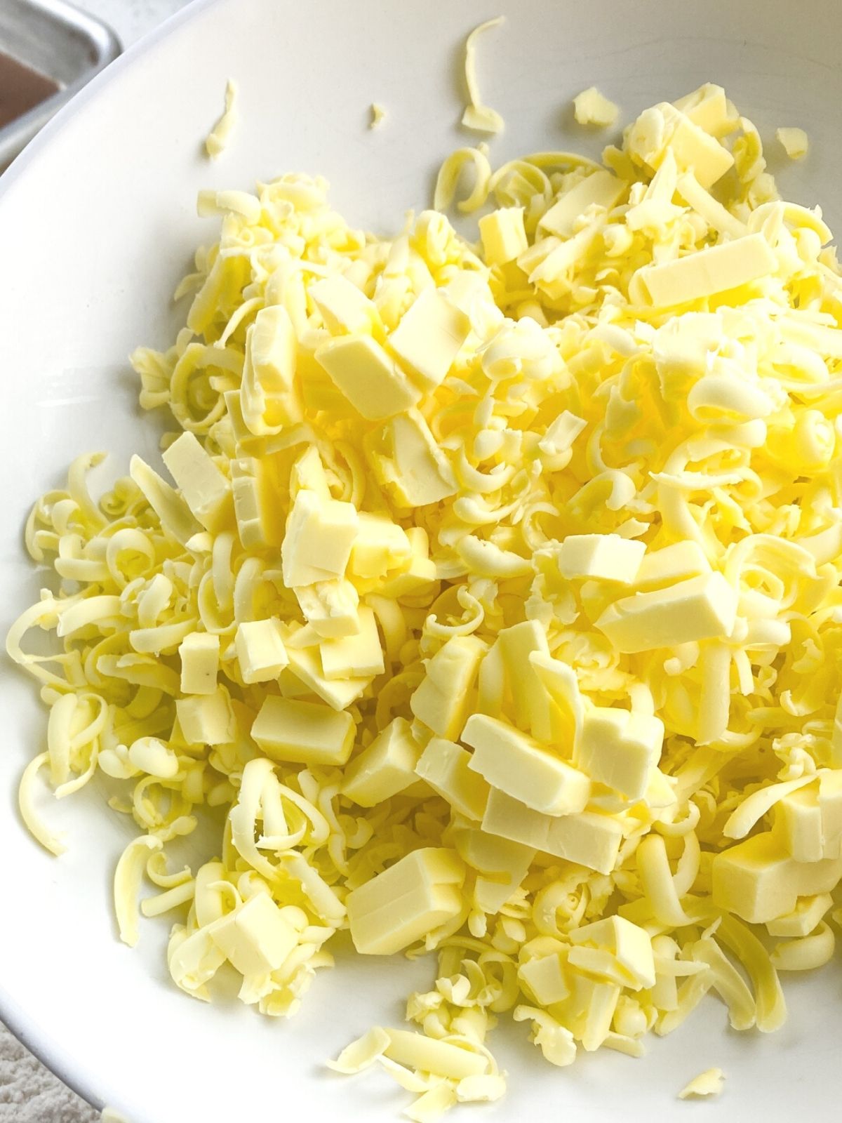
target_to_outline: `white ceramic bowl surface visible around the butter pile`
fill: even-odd
[[[20,545],[31,499],[85,449],[109,449],[115,471],[131,450],[157,455],[125,356],[140,341],[167,343],[183,316],[170,293],[194,245],[212,236],[194,217],[198,188],[320,172],[350,218],[395,229],[429,199],[441,157],[465,141],[461,43],[501,10],[507,24],[481,53],[483,90],[507,121],[495,159],[571,145],[597,152],[604,138],[571,131],[568,112],[592,83],[628,118],[712,80],[767,137],[781,124],[807,126],[809,158],[782,183],[803,202],[821,200],[831,221],[842,218],[842,11],[833,0],[200,2],[98,79],[0,183],[3,628],[37,588]],[[241,85],[241,122],[209,164],[200,141],[228,75]],[[388,110],[376,133],[365,128],[373,100]],[[403,997],[429,968],[340,952],[289,1023],[175,992],[166,923],[145,922],[134,952],[115,937],[110,876],[131,825],[91,787],[62,805],[45,801],[70,842],[61,860],[25,834],[13,788],[43,745],[44,714],[8,665],[1,677],[0,1016],[131,1123],[394,1119],[404,1093],[376,1075],[326,1072],[321,1060],[373,1022],[399,1023]],[[601,1052],[560,1071],[527,1044],[525,1026],[500,1032],[510,1093],[483,1117],[830,1119],[842,1093],[839,968],[787,982],[791,1016],[776,1035],[729,1032],[710,999],[642,1061]],[[727,1074],[725,1096],[677,1104],[684,1083],[712,1065]]]

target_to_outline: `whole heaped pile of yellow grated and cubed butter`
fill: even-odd
[[[140,833],[123,939],[287,1016],[327,947],[434,951],[378,1063],[410,1119],[495,1099],[501,1015],[555,1065],[632,1056],[711,992],[780,1025],[842,878],[842,279],[705,85],[604,164],[442,168],[485,208],[384,240],[326,184],[203,193],[186,327],[138,350],[168,478],[76,460],[27,524],[61,578],[13,626],[62,797]],[[491,209],[488,209],[491,204]],[[55,654],[25,651],[30,629]],[[216,852],[167,844],[225,809]],[[141,886],[154,887],[138,905]]]

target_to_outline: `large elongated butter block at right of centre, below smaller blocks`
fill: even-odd
[[[692,640],[726,638],[734,627],[736,603],[736,591],[721,573],[702,574],[668,588],[615,601],[596,627],[619,651],[651,651]]]

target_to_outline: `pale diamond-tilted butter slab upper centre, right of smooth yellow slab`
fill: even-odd
[[[469,331],[469,318],[446,293],[425,289],[401,317],[388,337],[388,346],[425,390],[434,390],[452,366]]]

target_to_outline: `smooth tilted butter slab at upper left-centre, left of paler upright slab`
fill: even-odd
[[[421,398],[421,392],[370,336],[337,336],[320,344],[315,359],[367,421],[404,413]]]

